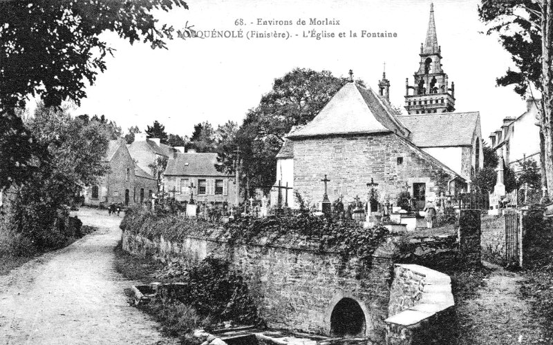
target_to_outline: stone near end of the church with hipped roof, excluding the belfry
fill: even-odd
[[[366,199],[372,181],[378,201],[394,203],[408,189],[422,208],[440,193],[467,188],[458,172],[413,143],[411,130],[388,102],[350,80],[310,123],[287,137],[294,193],[310,204],[321,201],[326,175],[331,201]]]

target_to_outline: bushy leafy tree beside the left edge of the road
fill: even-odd
[[[96,184],[108,166],[104,163],[112,130],[109,121],[39,106],[26,126],[46,157],[34,161],[37,169],[19,186],[10,188],[6,210],[14,243],[32,248],[62,245],[70,233],[59,226],[82,186]]]

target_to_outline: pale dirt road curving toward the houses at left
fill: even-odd
[[[167,344],[156,323],[126,303],[132,282],[113,270],[122,217],[77,213],[98,230],[0,276],[0,344]]]

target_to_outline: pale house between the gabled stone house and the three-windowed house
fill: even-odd
[[[178,152],[178,149],[162,144],[159,138],[147,138],[146,133],[136,133],[133,143],[129,145],[131,157],[150,175],[155,175],[152,166],[157,164],[158,159],[169,159],[175,152]],[[181,148],[180,152],[184,150]]]

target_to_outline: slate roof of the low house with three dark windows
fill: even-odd
[[[229,176],[218,171],[216,153],[177,153],[167,161],[165,176]]]

